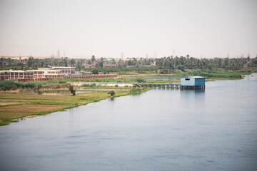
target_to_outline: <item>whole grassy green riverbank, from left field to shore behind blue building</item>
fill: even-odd
[[[196,73],[200,72],[198,75]],[[147,82],[147,83],[180,83],[179,78],[183,76],[202,76],[207,74],[209,71],[198,71],[191,70],[186,72],[179,72],[173,74],[138,74],[138,75],[126,75],[119,76],[118,78],[101,78],[101,79],[91,79],[90,81],[102,81],[102,82]],[[222,75],[225,74],[227,75]],[[237,73],[231,73],[231,71],[218,71],[208,75],[206,81],[215,81],[215,80],[228,80],[228,79],[241,79],[243,75],[248,75],[253,73],[253,70],[248,71],[238,71]],[[196,74],[196,75],[192,75]],[[231,74],[231,75],[228,75]],[[236,74],[236,75],[235,75]],[[239,76],[238,76],[239,74]],[[214,77],[219,76],[219,77]],[[237,77],[238,76],[238,77]],[[145,80],[144,78],[165,78],[163,80]],[[228,78],[225,78],[228,77]],[[166,79],[172,78],[172,79]],[[76,78],[72,81],[84,81],[85,79]],[[63,78],[56,78],[51,81],[42,81],[42,82],[32,82],[32,83],[8,83],[9,86],[6,86],[7,91],[0,91],[0,125],[7,125],[11,122],[18,122],[21,119],[26,117],[34,117],[36,115],[46,115],[49,113],[54,113],[60,110],[66,110],[68,108],[78,107],[79,105],[86,105],[88,103],[94,103],[99,100],[104,100],[107,98],[112,98],[109,95],[109,91],[114,90],[115,97],[143,93],[151,88],[129,88],[129,87],[119,87],[118,85],[114,87],[110,86],[96,86],[96,84],[84,85],[77,87],[76,89],[87,90],[85,93],[77,93],[76,95],[39,95],[39,94],[26,94],[19,93],[17,90],[11,88],[30,88],[34,89],[44,88],[44,90],[58,90],[58,88],[66,88],[69,86],[69,83],[66,83],[66,80]],[[85,80],[87,81],[87,80]],[[1,82],[4,83],[4,82]],[[1,87],[3,88],[3,87]],[[49,88],[49,89],[47,89]],[[54,89],[51,89],[54,88]],[[63,90],[63,89],[62,89]],[[66,88],[67,90],[67,88]]]

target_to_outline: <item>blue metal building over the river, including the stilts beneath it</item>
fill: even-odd
[[[200,76],[181,78],[181,87],[186,89],[204,88],[205,78]]]

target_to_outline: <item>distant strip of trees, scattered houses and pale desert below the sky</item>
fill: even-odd
[[[257,66],[257,56],[250,58],[241,56],[240,58],[193,58],[186,56],[167,56],[163,58],[103,58],[91,56],[85,58],[68,58],[68,57],[49,57],[39,58],[34,56],[14,56],[0,58],[0,68],[11,68],[13,70],[21,68],[51,68],[52,66],[70,66],[76,67],[76,70],[85,68],[131,68],[137,67],[158,67],[159,69],[241,69],[243,67]]]

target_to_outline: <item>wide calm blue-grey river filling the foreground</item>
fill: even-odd
[[[257,170],[257,74],[0,127],[0,170]]]

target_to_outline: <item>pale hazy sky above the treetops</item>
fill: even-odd
[[[0,54],[257,55],[256,0],[0,0]]]

